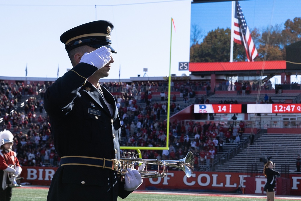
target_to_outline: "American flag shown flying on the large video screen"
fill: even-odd
[[[235,1],[234,9],[234,42],[243,45],[246,49],[248,61],[254,61],[258,56],[257,49],[251,37],[250,30],[247,26],[244,13],[241,10],[238,1]]]

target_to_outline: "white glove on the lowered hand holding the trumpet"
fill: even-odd
[[[141,174],[136,169],[127,168],[126,175],[124,176],[125,184],[124,190],[136,190],[143,182]]]

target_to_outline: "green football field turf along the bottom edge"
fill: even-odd
[[[13,189],[11,201],[45,201],[48,189],[46,188],[28,188],[18,187]],[[276,197],[275,200],[296,201],[301,198],[292,197],[285,199]],[[96,199],[97,200],[97,199]],[[101,200],[101,198],[99,198]],[[244,194],[206,194],[206,193],[178,193],[174,191],[134,191],[126,199],[118,197],[118,201],[265,201],[265,196],[252,196]]]

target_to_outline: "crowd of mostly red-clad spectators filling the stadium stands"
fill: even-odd
[[[167,113],[164,93],[167,82],[135,82],[130,85],[121,82],[101,83],[116,95],[119,117],[122,124],[121,146],[166,146],[166,123],[161,118]],[[1,82],[0,122],[1,129],[10,130],[15,136],[13,149],[23,166],[60,165],[60,158],[54,150],[51,126],[43,109],[43,92],[50,82],[43,85],[32,83],[8,84]],[[183,102],[195,97],[195,90],[208,90],[209,82],[178,81],[172,83],[172,90],[179,91]],[[201,88],[200,88],[201,87]],[[210,90],[210,89],[209,89]],[[123,93],[121,93],[123,92]],[[160,92],[161,101],[153,101],[152,93]],[[22,97],[27,101],[17,107]],[[176,96],[171,98],[171,111],[180,111]],[[209,100],[196,98],[196,103]],[[140,103],[140,104],[137,104]],[[244,122],[223,126],[210,122],[171,122],[169,128],[169,150],[142,150],[143,159],[182,159],[191,151],[195,157],[195,169],[209,168],[217,154],[223,151],[225,143],[240,143]],[[127,150],[135,152],[135,150]],[[123,152],[123,150],[121,150]],[[122,155],[122,153],[121,153]],[[152,167],[150,167],[152,168]]]

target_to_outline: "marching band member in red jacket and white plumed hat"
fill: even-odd
[[[9,130],[0,132],[0,200],[11,200],[14,178],[21,174],[22,168],[17,153],[12,151],[14,136]],[[17,187],[17,186],[15,186]]]

